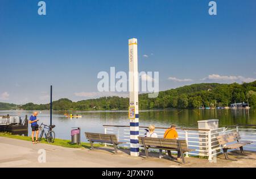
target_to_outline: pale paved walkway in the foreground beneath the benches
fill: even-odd
[[[46,150],[46,163],[39,163],[39,149]],[[236,161],[227,161],[223,155],[217,157],[217,163],[209,163],[207,159],[196,157],[185,158],[189,163],[179,165],[176,161],[158,159],[157,153],[150,153],[152,157],[145,159],[144,153],[140,157],[131,157],[129,151],[119,151],[113,154],[112,148],[89,149],[64,148],[48,144],[31,144],[30,141],[0,137],[0,167],[256,167],[256,153],[246,152],[240,155],[238,151],[230,154]]]

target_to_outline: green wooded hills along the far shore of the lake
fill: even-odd
[[[234,102],[249,101],[256,106],[256,81],[243,84],[203,83],[160,91],[157,98],[139,94],[139,109],[197,109],[204,107],[230,106]],[[0,106],[1,107],[1,106]],[[53,101],[53,110],[127,110],[129,98],[101,97],[72,102],[67,98]],[[49,110],[48,104],[27,103],[19,106],[24,110]]]

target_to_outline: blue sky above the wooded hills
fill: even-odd
[[[46,103],[50,85],[54,99],[98,97],[98,72],[128,72],[129,38],[159,90],[256,78],[254,0],[216,1],[215,16],[209,0],[48,0],[45,16],[38,2],[0,1],[1,102]]]

